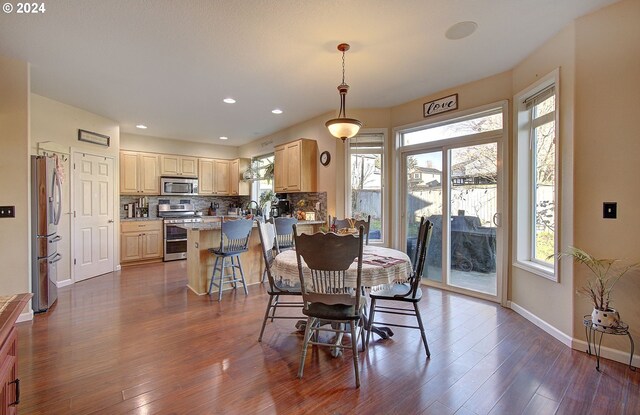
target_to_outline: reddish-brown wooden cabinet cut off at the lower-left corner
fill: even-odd
[[[32,294],[0,296],[0,414],[17,414],[18,332],[15,322]]]

